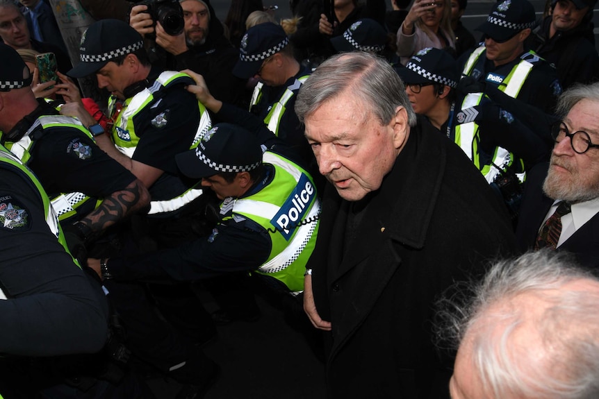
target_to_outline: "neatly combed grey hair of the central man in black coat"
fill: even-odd
[[[303,123],[322,103],[346,90],[369,106],[382,125],[391,122],[397,106],[402,106],[408,113],[408,124],[416,126],[416,114],[393,67],[363,51],[337,54],[322,62],[300,88],[295,113]]]

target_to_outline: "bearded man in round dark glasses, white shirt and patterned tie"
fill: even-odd
[[[527,177],[516,239],[521,251],[554,248],[599,265],[599,83],[559,97],[550,162]]]

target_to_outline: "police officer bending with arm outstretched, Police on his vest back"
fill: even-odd
[[[202,178],[222,201],[212,234],[170,251],[92,267],[117,280],[200,280],[255,271],[270,285],[300,294],[320,201],[301,160],[277,142],[264,133],[256,137],[240,126],[217,124],[195,150],[177,156],[181,171]],[[261,143],[268,151],[262,152]]]

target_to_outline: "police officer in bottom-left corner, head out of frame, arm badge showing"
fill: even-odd
[[[0,392],[6,399],[153,398],[133,375],[108,379],[98,353],[108,337],[106,298],[68,253],[38,178],[3,146],[0,176]]]

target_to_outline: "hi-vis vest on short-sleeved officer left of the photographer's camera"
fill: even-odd
[[[189,80],[189,81],[188,81]],[[133,117],[139,112],[145,109],[147,105],[154,101],[154,94],[160,90],[165,90],[170,85],[179,82],[193,83],[192,78],[187,74],[181,74],[176,71],[164,71],[154,81],[151,87],[147,87],[131,99],[126,99],[122,111],[118,114],[117,120],[112,131],[113,142],[117,149],[124,153],[129,158],[133,158],[133,154],[136,151],[137,145],[140,138],[136,135],[135,126],[133,124]],[[110,114],[113,113],[116,101],[114,97],[111,97],[108,103],[108,110]],[[190,149],[197,147],[202,137],[212,127],[212,121],[210,115],[206,111],[204,104],[197,102],[199,108],[199,124],[197,126],[195,135],[190,143]],[[187,205],[191,201],[202,195],[202,189],[190,188],[183,194],[169,200],[151,201],[150,210],[148,214],[159,214],[164,212],[172,212],[179,208]]]

